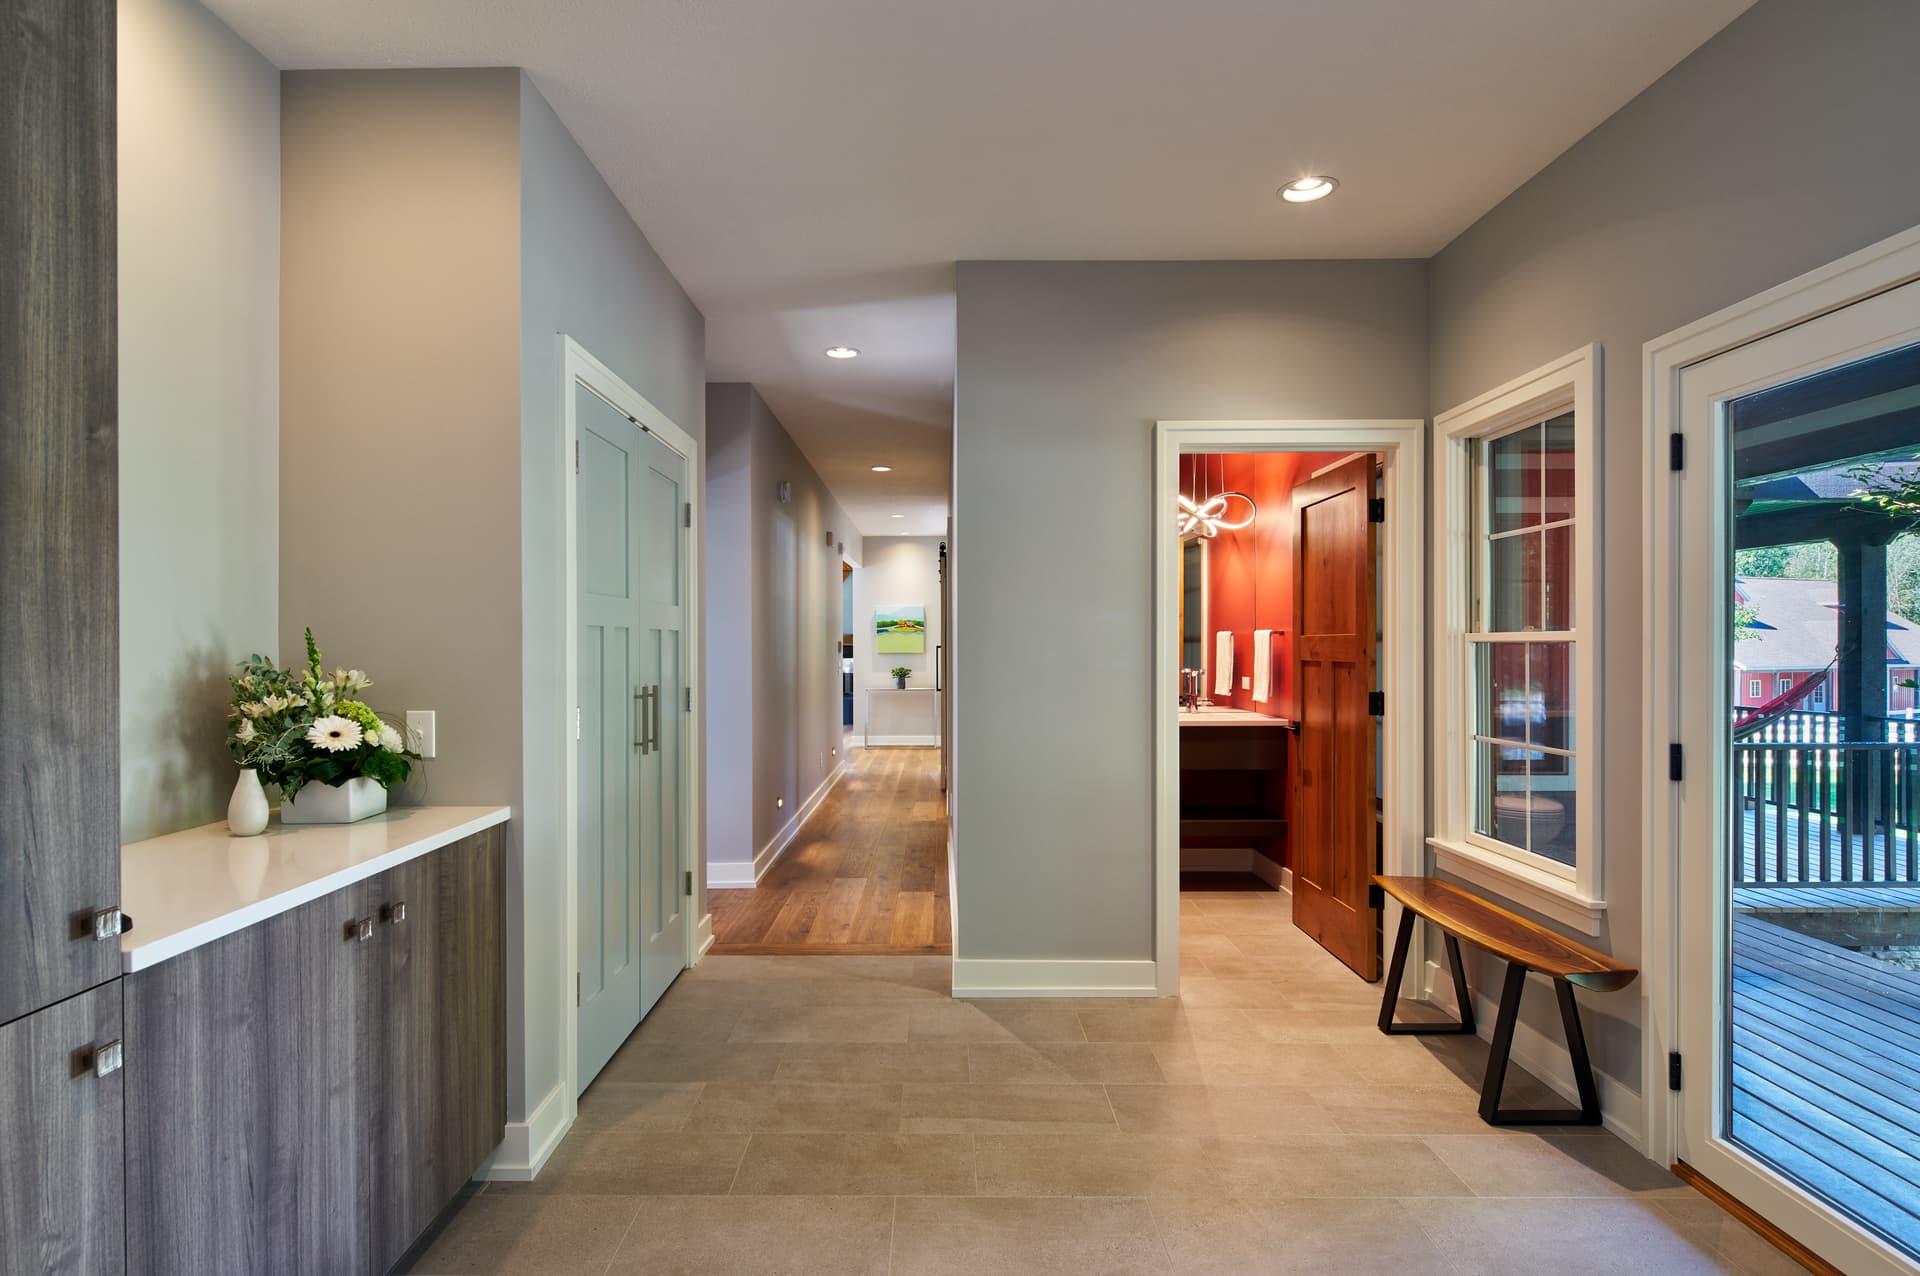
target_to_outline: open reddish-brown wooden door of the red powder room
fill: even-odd
[[[1294,487],[1294,925],[1365,979],[1380,977],[1369,904],[1375,831],[1373,457]]]

